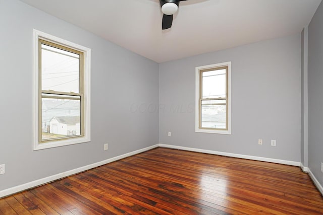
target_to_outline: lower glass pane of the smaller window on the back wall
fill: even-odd
[[[224,103],[224,104],[223,104]],[[226,129],[226,100],[202,101],[201,127]]]

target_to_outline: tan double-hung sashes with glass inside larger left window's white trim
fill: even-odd
[[[39,144],[83,136],[83,53],[39,39]]]

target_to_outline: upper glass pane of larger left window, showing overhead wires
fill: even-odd
[[[41,89],[79,93],[79,55],[41,44]]]

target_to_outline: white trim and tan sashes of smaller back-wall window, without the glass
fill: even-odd
[[[202,99],[202,73],[223,68],[227,68],[226,98]],[[226,129],[201,127],[201,102],[205,100],[226,100]],[[231,61],[195,67],[195,132],[231,134]]]

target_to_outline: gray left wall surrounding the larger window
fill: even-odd
[[[0,190],[158,143],[158,64],[17,0],[0,0]],[[33,151],[33,29],[91,48],[91,142]],[[109,142],[109,150],[103,144]]]

